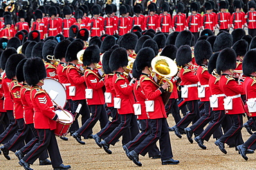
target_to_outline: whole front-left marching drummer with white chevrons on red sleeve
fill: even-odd
[[[19,161],[19,164],[24,169],[31,169],[30,164],[33,164],[42,151],[47,149],[51,156],[53,169],[71,169],[70,165],[62,164],[62,157],[54,134],[58,116],[54,112],[50,96],[42,89],[44,78],[46,78],[46,69],[42,59],[38,57],[28,59],[24,64],[24,75],[25,81],[32,86],[30,97],[33,98],[34,123],[39,135],[39,142]],[[57,106],[56,108],[60,109],[61,107]]]

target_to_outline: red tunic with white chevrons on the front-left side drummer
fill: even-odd
[[[32,99],[35,115],[35,129],[56,129],[56,118],[53,102],[47,92],[41,87],[35,86],[31,88],[30,98]]]

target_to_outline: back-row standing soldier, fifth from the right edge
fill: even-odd
[[[197,14],[199,10],[197,3],[195,2],[191,3],[190,10],[192,14],[187,19],[187,27],[188,27],[188,30],[190,30],[194,35],[195,41],[197,41],[197,39],[199,38],[199,32],[201,28],[201,15]]]

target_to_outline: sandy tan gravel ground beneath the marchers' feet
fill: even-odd
[[[172,116],[168,118],[169,125],[174,125]],[[246,118],[244,118],[244,123]],[[93,134],[100,130],[99,123],[93,129]],[[246,129],[242,129],[244,141],[250,136]],[[206,150],[198,147],[196,142],[190,144],[185,135],[181,139],[170,132],[172,151],[175,160],[180,160],[176,165],[162,165],[160,159],[151,159],[146,155],[140,156],[140,162],[143,167],[137,167],[125,155],[122,149],[122,143],[117,142],[110,149],[113,152],[111,155],[100,149],[95,144],[93,139],[86,139],[86,145],[80,145],[69,134],[68,141],[57,138],[57,142],[62,154],[64,164],[70,164],[72,169],[256,169],[255,154],[247,154],[248,161],[241,158],[235,148],[228,148],[228,153],[223,154],[217,146],[214,145],[214,139],[205,142]],[[23,169],[18,164],[18,159],[14,153],[10,151],[11,160],[6,160],[3,154],[0,156],[0,169]],[[39,166],[39,161],[35,161],[30,166],[33,169],[52,169],[51,166]]]

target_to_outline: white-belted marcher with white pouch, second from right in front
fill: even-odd
[[[237,83],[235,78],[233,78],[236,58],[235,51],[227,47],[219,53],[217,59],[217,73],[221,75],[219,88],[223,94],[226,95],[224,99],[224,109],[226,116],[231,118],[232,124],[230,129],[228,129],[221,138],[216,140],[214,144],[225,154],[227,151],[224,147],[224,143],[234,143],[234,140],[235,146],[243,143],[241,128],[243,127],[243,114],[245,111],[241,94],[244,92],[244,88],[242,83]],[[242,79],[241,76],[239,76],[239,79]]]

